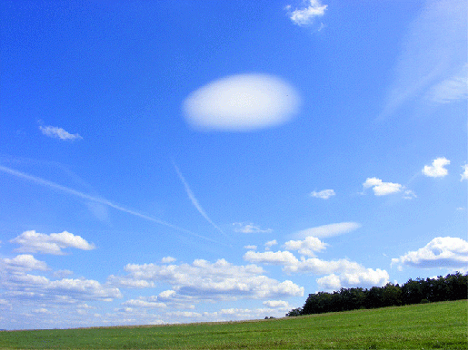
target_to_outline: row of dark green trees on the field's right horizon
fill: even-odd
[[[323,314],[361,308],[402,306],[434,301],[468,298],[468,273],[460,272],[437,278],[416,278],[399,286],[387,283],[385,287],[370,289],[341,288],[339,292],[309,294],[303,307],[289,311],[286,316]]]

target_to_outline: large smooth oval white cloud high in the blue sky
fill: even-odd
[[[274,75],[240,74],[192,92],[184,116],[196,130],[251,131],[289,122],[299,104],[294,87]]]

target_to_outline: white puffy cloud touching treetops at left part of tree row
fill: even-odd
[[[320,290],[337,291],[342,287],[382,287],[388,283],[388,279],[388,272],[385,270],[365,268],[356,272],[320,277],[317,278],[317,284]]]

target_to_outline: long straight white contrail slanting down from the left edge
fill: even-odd
[[[50,189],[60,190],[62,192],[65,192],[65,193],[70,194],[70,195],[75,196],[75,197],[79,197],[79,198],[82,198],[82,199],[88,199],[88,200],[94,201],[96,203],[104,204],[104,205],[106,205],[108,207],[123,211],[123,212],[125,212],[127,214],[134,215],[135,217],[146,219],[146,220],[149,220],[149,221],[153,221],[153,222],[155,222],[157,224],[167,226],[168,228],[174,228],[176,230],[188,233],[188,234],[193,235],[193,236],[195,236],[197,238],[203,238],[203,239],[209,240],[209,241],[214,242],[214,243],[219,243],[218,241],[215,241],[214,239],[210,239],[210,238],[206,238],[204,236],[198,235],[198,234],[196,234],[196,233],[194,233],[192,231],[189,231],[188,229],[185,229],[185,228],[179,228],[178,226],[175,226],[175,225],[173,225],[173,224],[171,224],[169,222],[165,222],[165,221],[160,220],[160,219],[154,219],[154,218],[149,217],[147,215],[141,214],[141,213],[139,213],[137,211],[134,211],[134,210],[131,210],[131,209],[126,209],[124,207],[121,207],[119,205],[114,204],[113,202],[111,202],[111,201],[109,201],[107,199],[93,197],[93,196],[90,196],[89,194],[86,194],[86,193],[83,193],[83,192],[73,190],[73,189],[70,189],[68,187],[59,185],[58,183],[55,183],[55,182],[52,182],[52,181],[49,181],[49,180],[44,180],[44,179],[38,178],[38,177],[33,176],[33,175],[28,175],[28,174],[26,174],[24,172],[14,170],[14,169],[10,169],[10,168],[4,167],[2,165],[0,165],[0,171],[3,171],[3,172],[5,172],[7,174],[10,174],[10,175],[13,175],[13,176],[15,176],[17,178],[21,178],[21,179],[24,179],[24,180],[29,180],[29,181],[35,182],[38,185],[45,186],[45,187],[48,187]]]

